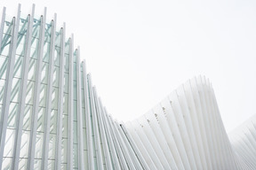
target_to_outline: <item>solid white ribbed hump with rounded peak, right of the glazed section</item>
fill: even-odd
[[[154,169],[238,169],[212,86],[196,77],[125,124]]]

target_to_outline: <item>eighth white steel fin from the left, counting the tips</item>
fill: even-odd
[[[78,168],[84,169],[84,142],[83,142],[83,116],[82,116],[82,97],[81,97],[81,64],[80,48],[76,53],[76,91],[77,91],[77,133],[78,133]]]

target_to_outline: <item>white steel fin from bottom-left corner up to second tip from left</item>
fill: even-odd
[[[18,6],[17,19],[12,19],[12,41],[11,47],[9,49],[9,62],[6,70],[6,81],[4,83],[4,98],[3,98],[3,108],[1,112],[1,121],[0,121],[0,168],[3,163],[3,154],[4,154],[4,143],[5,143],[5,135],[7,128],[7,120],[10,106],[10,99],[12,93],[12,77],[13,77],[13,68],[15,61],[15,53],[16,53],[16,43],[17,36],[19,31],[19,21],[20,21],[20,4]]]

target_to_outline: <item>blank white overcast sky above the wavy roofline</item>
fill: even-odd
[[[256,1],[0,0],[9,15],[57,13],[74,33],[108,112],[133,120],[195,75],[212,86],[228,131],[256,113]]]

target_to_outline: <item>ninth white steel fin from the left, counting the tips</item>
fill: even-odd
[[[87,81],[87,73],[85,69],[85,61],[82,63],[83,65],[83,81],[84,81],[84,105],[85,105],[85,116],[86,116],[86,135],[87,135],[87,148],[88,148],[88,169],[95,169],[93,164],[93,152],[92,152],[92,122],[91,122],[91,110],[89,104],[89,91],[88,91],[88,81]]]

